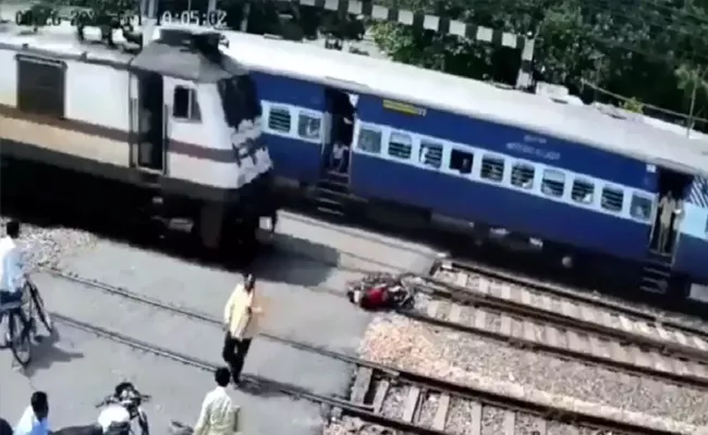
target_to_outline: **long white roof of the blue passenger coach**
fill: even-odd
[[[246,67],[380,95],[708,176],[708,146],[585,104],[501,89],[485,82],[307,44],[222,32]]]

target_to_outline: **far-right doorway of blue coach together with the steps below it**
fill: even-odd
[[[660,166],[651,169],[657,173],[658,194],[640,288],[666,293],[680,243],[684,200],[693,176]]]

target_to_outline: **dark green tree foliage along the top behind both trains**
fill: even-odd
[[[693,107],[694,115],[708,116],[708,0],[375,2],[516,35],[533,35],[535,78],[565,85],[585,100],[608,101],[582,86],[582,80],[588,79],[610,92],[634,96],[646,107],[683,113]],[[188,8],[206,12],[208,3],[160,0],[160,14],[179,14]],[[94,24],[105,27],[114,27],[114,16],[120,16],[121,11],[136,8],[133,0],[72,0],[72,4],[89,8],[98,21]],[[366,23],[344,12],[295,2],[217,0],[217,8],[225,12],[230,28],[294,40],[326,37],[328,46],[338,49],[343,47],[342,40],[362,39],[368,29],[379,49],[398,62],[467,77],[514,84],[521,65],[517,49],[396,23]]]

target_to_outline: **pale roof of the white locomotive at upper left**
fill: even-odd
[[[199,32],[197,27],[185,26],[175,26],[172,29]],[[200,29],[204,30],[204,28]],[[98,40],[98,36],[90,37],[94,36],[90,35],[90,28],[86,29],[86,34],[87,39]],[[136,45],[125,41],[118,36],[118,33],[115,35],[117,48],[109,48],[97,41],[78,41],[74,28],[69,23],[56,27],[45,27],[37,33],[30,32],[26,27],[5,24],[0,25],[0,49],[15,50],[29,55],[47,55],[113,67],[148,71],[199,83],[213,83],[244,72],[229,57],[224,57],[223,62],[216,63],[202,52],[162,44],[161,40],[155,40],[138,51]],[[158,32],[156,35],[160,35],[160,33]]]

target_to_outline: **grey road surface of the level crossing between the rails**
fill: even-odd
[[[265,328],[352,353],[368,315],[342,297],[308,287],[341,288],[347,279],[361,276],[361,270],[423,270],[435,254],[425,247],[288,213],[281,219],[280,232],[277,243],[305,257],[273,253],[256,265],[259,288],[271,301]],[[335,262],[341,266],[331,265]],[[237,273],[107,241],[64,260],[61,269],[217,318],[240,279]],[[53,312],[220,363],[223,333],[213,324],[49,274],[37,273],[33,278]],[[13,366],[9,351],[0,351],[0,415],[12,424],[34,389],[49,394],[53,428],[91,422],[97,415],[94,403],[123,380],[152,396],[146,409],[154,433],[167,433],[171,420],[194,423],[204,394],[213,385],[210,373],[62,324],[58,328],[59,337],[38,346],[27,373]],[[352,375],[339,361],[266,338],[254,340],[245,372],[339,395],[346,394]],[[232,397],[243,407],[247,434],[312,434],[321,425],[320,409],[310,402],[235,389]]]

